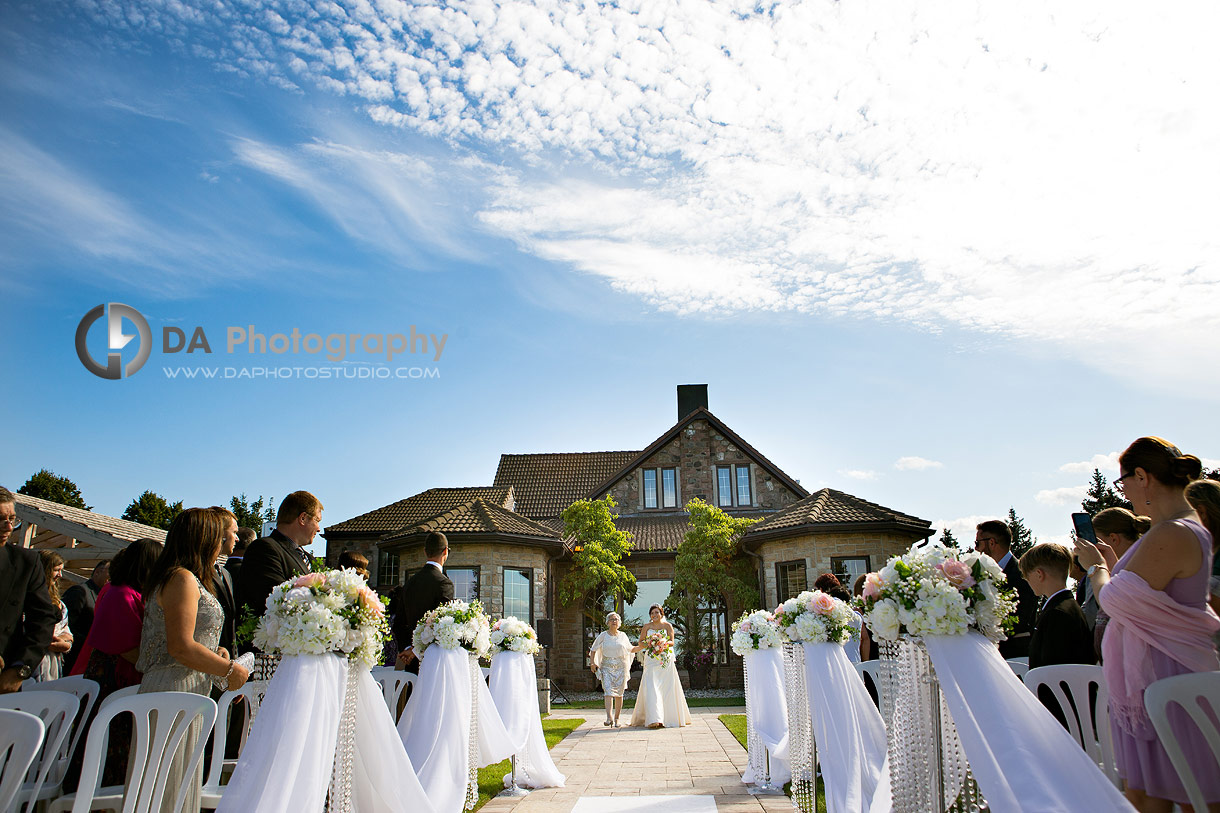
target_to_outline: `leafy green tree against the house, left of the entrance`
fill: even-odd
[[[573,547],[572,566],[559,584],[559,601],[565,607],[577,598],[601,594],[636,601],[636,576],[621,564],[631,555],[631,533],[615,526],[615,505],[606,496],[578,499],[564,509],[564,540]]]

